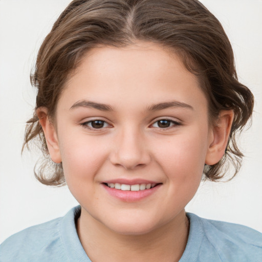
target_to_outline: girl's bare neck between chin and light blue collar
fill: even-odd
[[[81,212],[77,232],[85,252],[94,262],[176,262],[186,248],[189,222],[183,210],[160,228],[146,234],[125,235],[108,229],[89,214]]]

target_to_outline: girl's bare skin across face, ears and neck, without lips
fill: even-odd
[[[79,104],[83,100],[113,111]],[[173,101],[179,103],[148,110]],[[180,259],[189,232],[184,208],[204,164],[223,156],[232,124],[232,111],[223,111],[210,126],[207,104],[197,77],[176,54],[137,42],[86,54],[59,98],[55,121],[47,108],[38,108],[51,158],[62,162],[81,205],[77,232],[92,261]],[[89,121],[97,119],[107,123],[92,129]],[[159,127],[161,119],[170,126]],[[140,201],[126,202],[104,189],[110,179],[146,179],[160,186]]]

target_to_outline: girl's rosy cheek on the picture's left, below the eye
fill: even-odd
[[[72,134],[72,133],[71,133]],[[96,188],[97,173],[107,159],[104,143],[94,138],[63,136],[61,157],[65,181],[80,205],[93,203],[99,198]]]

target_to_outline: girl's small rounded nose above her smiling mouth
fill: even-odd
[[[145,166],[151,161],[145,139],[139,130],[123,128],[117,134],[113,148],[111,162],[125,169]]]

